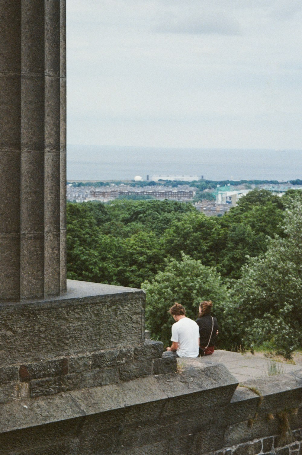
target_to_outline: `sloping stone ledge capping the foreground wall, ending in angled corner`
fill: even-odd
[[[203,368],[195,369],[188,361],[186,366],[187,369],[181,374],[148,376],[119,384],[2,404],[0,434],[82,416],[106,414],[113,410],[122,411],[133,406],[147,405],[148,408],[144,408],[144,419],[148,420],[154,415],[154,406],[159,405],[161,414],[169,416],[175,412],[175,404],[179,400],[187,400],[189,406],[193,402],[198,409],[209,404],[222,405],[230,402],[238,383],[224,365],[216,364],[215,368],[204,365]],[[217,375],[219,371],[220,374]],[[133,417],[141,420],[142,415],[136,414],[134,412]]]

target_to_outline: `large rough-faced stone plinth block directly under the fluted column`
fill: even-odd
[[[9,247],[13,247],[11,243],[5,247],[7,255],[11,255]],[[2,248],[0,242],[0,251]],[[3,276],[5,273],[7,267]],[[19,285],[20,280],[16,281]],[[75,280],[68,280],[67,293],[56,298],[3,303],[0,364],[137,346],[142,342],[144,304],[145,293],[140,289]],[[8,327],[14,333],[11,337],[6,334]]]

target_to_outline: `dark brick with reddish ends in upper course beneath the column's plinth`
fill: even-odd
[[[55,359],[21,365],[19,374],[21,381],[64,376],[68,374],[68,359]]]

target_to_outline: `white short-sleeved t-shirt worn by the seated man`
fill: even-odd
[[[178,343],[179,357],[198,357],[199,327],[189,318],[181,318],[172,325],[171,341]]]

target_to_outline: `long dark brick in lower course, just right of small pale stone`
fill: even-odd
[[[81,375],[67,374],[56,378],[33,379],[30,382],[31,398],[42,395],[54,395],[68,390],[80,389]]]

